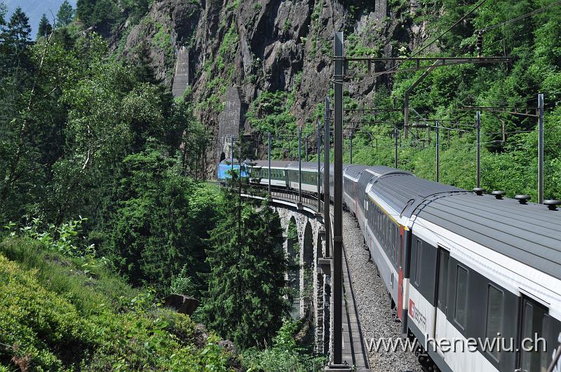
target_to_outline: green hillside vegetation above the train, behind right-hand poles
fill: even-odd
[[[466,22],[454,27],[442,42],[438,55],[466,55],[475,53],[474,30],[496,25],[536,10],[552,1],[506,1],[485,3]],[[421,4],[422,16],[430,25],[432,34],[449,27],[475,4],[467,1],[442,1],[444,12],[438,15],[426,13],[434,4]],[[437,4],[438,5],[438,4]],[[398,6],[398,4],[396,4]],[[547,12],[546,12],[547,13]],[[557,12],[558,13],[558,12]],[[561,131],[558,102],[561,99],[560,79],[560,39],[555,34],[561,32],[561,15],[538,13],[531,18],[512,22],[485,32],[483,55],[508,55],[513,64],[481,67],[464,64],[455,67],[435,69],[412,92],[410,106],[423,118],[440,119],[440,125],[452,130],[440,131],[440,181],[461,188],[475,186],[475,113],[462,111],[462,106],[515,106],[518,109],[535,107],[538,92],[546,93],[545,107],[545,168],[546,197],[560,198],[559,187],[559,146]],[[431,18],[431,16],[433,18]],[[360,43],[356,36],[349,36],[349,50],[355,50]],[[398,44],[396,44],[396,48]],[[359,50],[362,47],[359,48]],[[365,53],[360,50],[358,53]],[[355,53],[349,52],[350,53]],[[405,64],[404,67],[412,67]],[[419,78],[422,71],[396,74],[391,90],[379,89],[374,95],[374,106],[393,108],[403,106],[405,90]],[[356,106],[356,101],[345,98],[345,105]],[[374,120],[365,116],[365,120]],[[402,113],[381,113],[376,120],[403,123]],[[412,123],[421,121],[412,111]],[[434,121],[431,121],[434,123]],[[464,123],[458,132],[454,123]],[[482,113],[482,186],[490,190],[505,190],[508,196],[517,193],[532,195],[537,200],[537,119],[507,113]],[[503,129],[504,128],[504,129]],[[503,142],[503,130],[506,132]],[[390,125],[362,125],[361,132],[375,133],[370,138],[357,134],[353,140],[353,163],[393,166],[393,138]],[[400,131],[403,136],[403,125]],[[517,133],[520,132],[520,133]],[[428,144],[426,129],[413,129],[410,138],[400,140],[398,151],[399,166],[410,170],[419,177],[435,179],[435,128],[431,128],[431,142]],[[349,142],[346,141],[348,149]],[[349,154],[344,156],[349,161]]]

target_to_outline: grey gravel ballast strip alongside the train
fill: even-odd
[[[363,233],[350,213],[343,214],[343,231],[347,265],[365,340],[400,338],[401,323],[395,319],[396,311],[390,309],[386,287],[377,275],[374,263],[368,261],[369,254],[363,244]],[[373,372],[421,371],[417,357],[412,352],[403,352],[401,347],[397,352],[371,350],[368,357]]]

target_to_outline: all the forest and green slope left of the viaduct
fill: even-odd
[[[0,10],[0,371],[308,370],[278,215],[196,179],[192,102],[67,3],[35,42]]]

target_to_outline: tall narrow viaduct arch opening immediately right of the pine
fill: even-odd
[[[286,228],[286,255],[288,259],[287,286],[292,294],[292,317],[300,317],[300,242],[295,216],[290,216]]]

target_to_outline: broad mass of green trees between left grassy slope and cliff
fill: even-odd
[[[52,252],[107,257],[159,294],[182,270],[194,293],[205,289],[203,241],[220,199],[189,177],[201,178],[208,130],[145,60],[117,62],[95,34],[68,42],[27,47],[41,74],[22,71],[34,96],[27,83],[13,92],[13,121],[1,127],[0,221],[27,226]],[[83,233],[74,211],[90,217]]]

